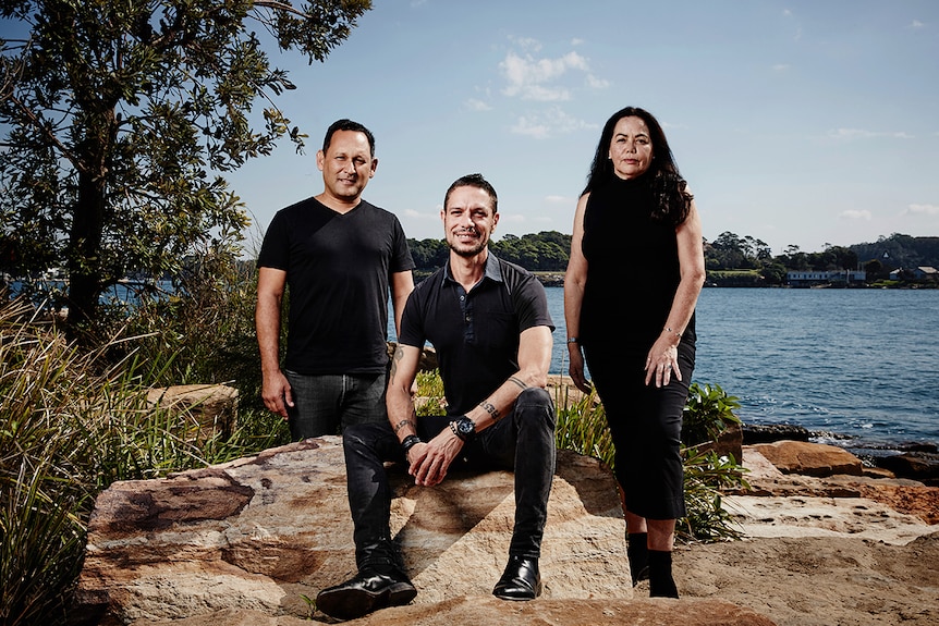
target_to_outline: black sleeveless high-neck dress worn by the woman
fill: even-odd
[[[653,217],[650,176],[614,179],[584,212],[587,281],[580,340],[615,449],[626,510],[649,519],[684,517],[682,413],[694,370],[694,316],[679,346],[682,380],[645,384],[645,360],[681,281],[675,226]]]

